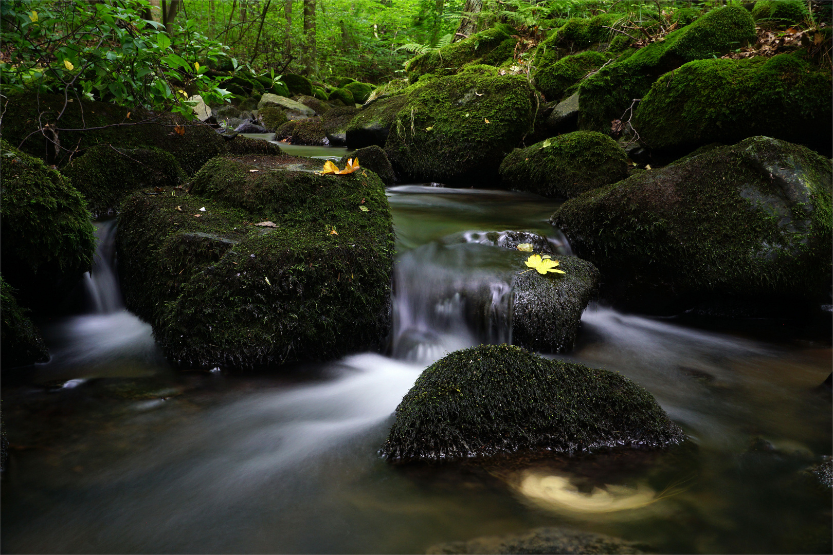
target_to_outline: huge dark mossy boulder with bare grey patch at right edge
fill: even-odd
[[[618,305],[766,315],[830,302],[831,219],[831,161],[758,136],[589,191],[551,222]]]

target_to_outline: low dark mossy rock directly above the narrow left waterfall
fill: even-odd
[[[122,197],[137,189],[185,181],[176,159],[158,148],[93,146],[62,172],[86,197],[87,208],[96,216],[114,212]]]

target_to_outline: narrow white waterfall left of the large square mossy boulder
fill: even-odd
[[[84,288],[94,314],[112,314],[124,308],[116,271],[117,220],[97,221],[96,255],[92,271],[84,274]]]

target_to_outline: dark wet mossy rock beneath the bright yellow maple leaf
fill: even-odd
[[[529,254],[516,255],[512,343],[545,353],[570,350],[576,344],[581,313],[599,295],[599,270],[576,256],[552,255],[565,274],[521,273],[529,270],[523,263]]]

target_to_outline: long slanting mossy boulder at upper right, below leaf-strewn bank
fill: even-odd
[[[606,131],[663,73],[686,62],[721,56],[756,39],[755,22],[741,6],[706,13],[665,40],[640,48],[581,82],[579,128]]]

